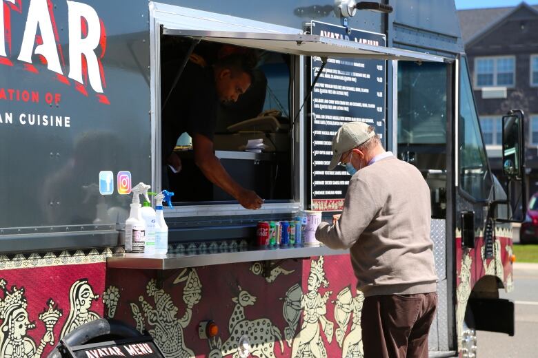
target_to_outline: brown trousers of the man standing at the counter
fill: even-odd
[[[427,358],[437,293],[364,299],[361,329],[365,358]]]

